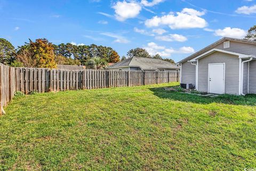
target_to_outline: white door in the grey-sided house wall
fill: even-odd
[[[223,94],[225,87],[225,64],[209,64],[209,92]]]

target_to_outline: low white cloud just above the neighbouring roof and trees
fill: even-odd
[[[159,54],[162,57],[170,57],[172,54],[191,54],[195,50],[192,47],[181,47],[178,50],[173,48],[166,48],[165,46],[158,46],[155,42],[149,42],[146,47],[144,47],[150,55]]]

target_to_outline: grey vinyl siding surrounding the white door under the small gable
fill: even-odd
[[[225,93],[239,93],[239,59],[238,56],[215,52],[198,60],[198,90],[208,91],[208,64],[225,63]],[[183,69],[183,67],[182,67]],[[182,70],[183,72],[183,70]]]

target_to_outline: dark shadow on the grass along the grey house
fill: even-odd
[[[165,90],[164,87],[150,88],[149,90],[153,91],[154,95],[160,98],[194,102],[197,104],[210,104],[212,102],[215,102],[231,105],[256,106],[256,95],[252,94],[246,96],[220,95],[218,97],[202,97],[194,94]]]

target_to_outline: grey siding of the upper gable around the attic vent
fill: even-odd
[[[229,48],[223,48],[223,42],[214,48],[227,50],[230,52],[245,54],[245,55],[256,55],[256,45],[248,44],[245,42],[230,41]]]

